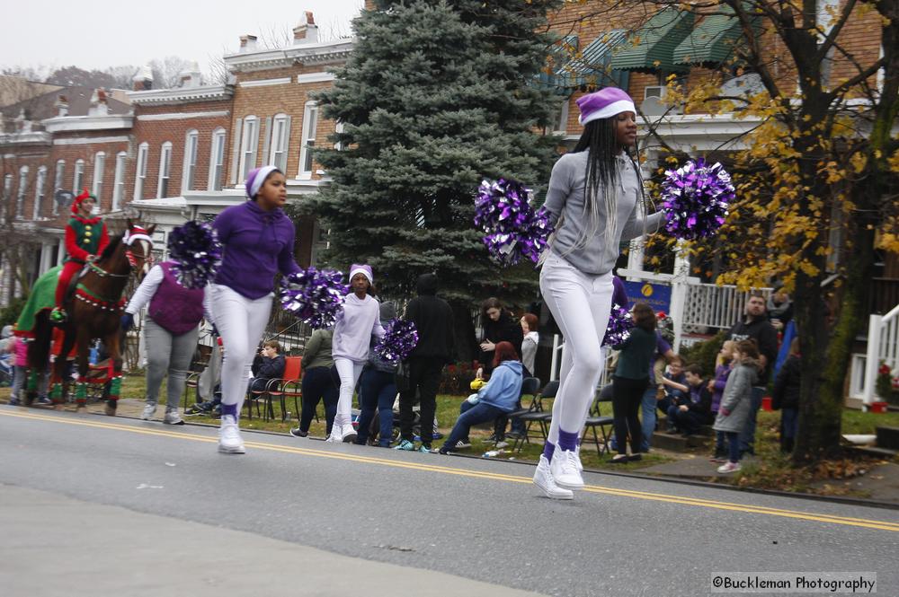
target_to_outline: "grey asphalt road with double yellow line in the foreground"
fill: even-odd
[[[823,571],[899,594],[893,510],[598,473],[556,502],[527,466],[244,439],[0,407],[0,593],[691,596]]]

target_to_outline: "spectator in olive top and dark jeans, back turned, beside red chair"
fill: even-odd
[[[334,427],[334,416],[337,414],[338,385],[334,383],[331,369],[334,367],[332,355],[331,329],[316,329],[303,349],[303,381],[300,391],[303,393],[303,406],[299,415],[299,426],[290,430],[294,437],[309,435],[309,426],[316,417],[316,408],[320,401],[325,402],[325,435],[330,436]]]

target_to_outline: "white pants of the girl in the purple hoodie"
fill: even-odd
[[[248,299],[223,285],[209,285],[209,303],[225,357],[222,361],[222,405],[243,408],[246,381],[271,313],[271,294]]]

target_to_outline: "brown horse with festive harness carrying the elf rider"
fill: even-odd
[[[50,380],[50,396],[56,408],[62,408],[63,386],[68,385],[68,380],[64,379],[66,358],[73,347],[77,348],[78,364],[76,402],[78,408],[85,407],[90,343],[99,338],[113,368],[106,414],[115,415],[121,388],[120,320],[126,303],[122,293],[131,276],[137,276],[139,282],[152,266],[155,229],[155,224],[145,230],[129,219],[126,232],[114,237],[98,259],[85,265],[75,294],[65,305],[68,319],[58,328],[62,332],[62,347],[57,353]],[[47,366],[53,344],[53,324],[47,313],[49,311],[45,310],[36,318],[35,339],[28,353],[29,365],[38,372]]]

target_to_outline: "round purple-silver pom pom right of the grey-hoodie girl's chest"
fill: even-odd
[[[727,205],[734,198],[734,184],[718,162],[709,166],[698,158],[677,170],[665,171],[665,230],[688,241],[711,236],[725,223]]]

